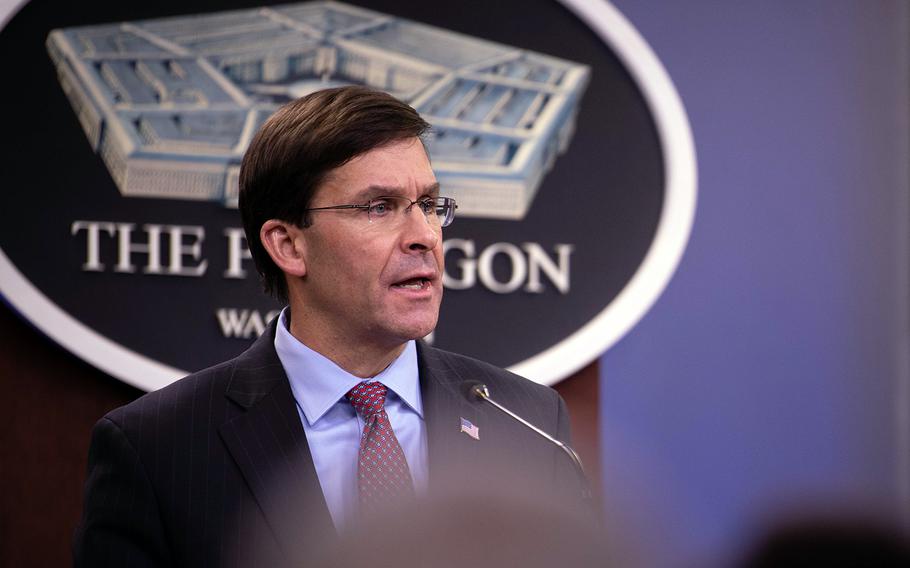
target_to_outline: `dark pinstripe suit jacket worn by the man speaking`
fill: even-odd
[[[273,323],[239,357],[95,425],[77,566],[301,565],[334,536],[274,333]],[[418,360],[431,492],[502,479],[503,462],[515,466],[509,475],[573,485],[565,456],[469,401],[461,385],[486,383],[498,400],[568,440],[555,391],[425,345]],[[479,427],[479,440],[460,432],[462,417]]]

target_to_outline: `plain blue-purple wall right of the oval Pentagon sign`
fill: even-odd
[[[778,514],[908,510],[908,7],[617,0],[689,113],[699,203],[601,361],[607,506],[655,565]]]

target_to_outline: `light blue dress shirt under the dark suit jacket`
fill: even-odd
[[[417,371],[417,346],[409,341],[391,365],[369,379],[356,377],[313,351],[288,331],[287,308],[275,333],[278,359],[291,381],[316,475],[335,527],[357,513],[357,454],[364,422],[345,394],[362,380],[388,388],[385,409],[401,444],[418,495],[427,487],[427,433]]]

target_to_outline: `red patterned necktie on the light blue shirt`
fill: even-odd
[[[364,513],[414,495],[408,462],[385,412],[385,393],[382,383],[363,381],[347,394],[365,422],[357,467],[360,510]]]

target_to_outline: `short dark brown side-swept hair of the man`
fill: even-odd
[[[281,107],[259,129],[240,164],[240,216],[266,293],[287,300],[284,273],[259,240],[269,219],[309,225],[306,209],[326,174],[396,140],[421,137],[430,125],[382,91],[339,87]]]

